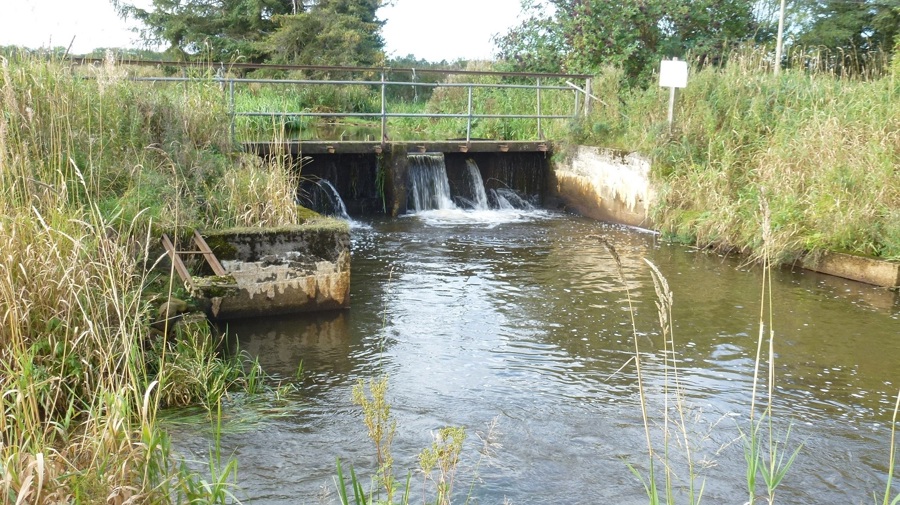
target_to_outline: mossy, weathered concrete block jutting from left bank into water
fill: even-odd
[[[350,306],[350,232],[327,221],[207,234],[228,275],[195,279],[212,319],[259,317]]]

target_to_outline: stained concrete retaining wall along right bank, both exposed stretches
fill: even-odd
[[[556,197],[579,214],[601,221],[653,228],[648,210],[656,197],[650,162],[634,153],[577,146],[554,163]],[[828,252],[800,262],[807,270],[882,287],[900,286],[900,263]]]

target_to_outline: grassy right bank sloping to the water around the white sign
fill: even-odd
[[[611,69],[604,99],[576,141],[652,158],[662,188],[654,220],[670,236],[777,260],[836,250],[900,259],[900,81],[788,69],[759,51],[692,69],[668,132],[668,90],[623,89]]]

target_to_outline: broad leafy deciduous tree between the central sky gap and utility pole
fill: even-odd
[[[499,54],[546,70],[596,72],[621,65],[646,78],[663,57],[716,61],[732,44],[753,39],[755,0],[523,0],[530,17],[497,39]],[[552,14],[545,14],[552,12]]]

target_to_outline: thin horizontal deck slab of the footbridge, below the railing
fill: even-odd
[[[505,152],[547,152],[551,145],[548,141],[494,141],[494,140],[441,140],[441,141],[403,141],[403,142],[367,142],[367,141],[328,141],[304,140],[291,142],[243,142],[244,151],[267,156],[273,152],[290,153],[293,156],[308,154],[366,154],[395,152],[408,153],[505,153]]]

